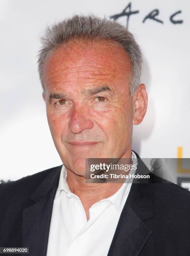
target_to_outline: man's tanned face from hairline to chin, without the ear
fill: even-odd
[[[108,42],[72,41],[47,56],[47,120],[63,164],[75,174],[85,174],[86,158],[130,158],[130,69],[125,51]]]

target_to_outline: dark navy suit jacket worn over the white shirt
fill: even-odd
[[[138,162],[137,172],[147,174]],[[61,167],[1,184],[0,247],[25,246],[30,256],[46,255]],[[125,255],[190,256],[190,192],[153,174],[146,183],[133,183],[108,252]]]

